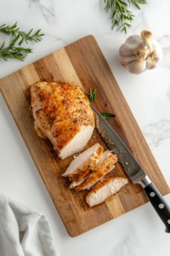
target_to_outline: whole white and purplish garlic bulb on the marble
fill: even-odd
[[[161,46],[151,40],[152,33],[144,30],[140,36],[127,38],[119,49],[120,62],[130,73],[143,73],[153,69],[161,60]]]

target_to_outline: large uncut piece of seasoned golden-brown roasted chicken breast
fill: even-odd
[[[62,159],[82,151],[94,131],[93,110],[78,86],[33,84],[31,109],[36,129],[48,137]]]

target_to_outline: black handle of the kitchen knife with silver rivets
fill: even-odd
[[[166,226],[166,232],[170,233],[170,207],[164,200],[160,192],[156,189],[153,183],[148,184],[144,187],[145,194],[150,200],[152,207],[155,208],[157,214],[161,218],[162,222]]]

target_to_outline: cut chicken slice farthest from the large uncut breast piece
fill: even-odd
[[[89,207],[94,207],[102,203],[111,195],[116,194],[116,192],[122,189],[126,184],[127,178],[123,177],[110,177],[99,181],[86,196],[86,201]]]

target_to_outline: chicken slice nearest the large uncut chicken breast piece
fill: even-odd
[[[70,189],[82,183],[89,172],[94,170],[103,155],[104,148],[96,143],[82,154],[79,154],[62,176],[70,177]]]

